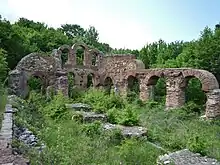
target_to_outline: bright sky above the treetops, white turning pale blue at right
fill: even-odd
[[[163,39],[189,41],[220,22],[220,0],[0,0],[0,14],[49,26],[95,26],[99,40],[115,48],[140,49]]]

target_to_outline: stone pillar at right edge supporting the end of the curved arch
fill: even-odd
[[[206,93],[206,118],[220,117],[220,89],[214,89]]]

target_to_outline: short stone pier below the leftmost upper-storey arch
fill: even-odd
[[[60,76],[57,78],[57,90],[61,91],[64,96],[68,97],[68,77]]]

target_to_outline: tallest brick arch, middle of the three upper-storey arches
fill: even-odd
[[[75,43],[71,47],[71,49],[73,51],[73,55],[71,56],[71,58],[75,59],[75,65],[77,65],[77,63],[76,63],[76,59],[77,59],[76,51],[77,51],[78,47],[81,47],[81,48],[84,49],[83,65],[86,66],[86,65],[88,65],[87,63],[89,62],[89,48],[86,44],[84,44],[84,43]]]

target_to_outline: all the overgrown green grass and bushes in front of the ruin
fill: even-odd
[[[141,124],[148,139],[122,139],[116,131],[104,133],[100,123],[82,124],[72,120],[73,112],[64,108],[70,100],[62,95],[46,100],[32,94],[16,114],[16,123],[34,131],[47,145],[38,155],[29,153],[32,164],[156,164],[164,152],[150,145],[156,143],[167,151],[188,148],[220,160],[220,122],[199,119],[200,107],[188,103],[182,109],[164,111],[157,102],[133,103],[94,89],[77,101],[91,104],[95,111],[105,112],[111,122]]]

